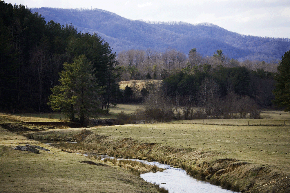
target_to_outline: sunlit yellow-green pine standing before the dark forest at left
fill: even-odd
[[[87,117],[96,117],[102,88],[97,84],[92,63],[84,55],[77,56],[73,63],[64,63],[59,76],[60,85],[53,87],[49,96],[52,110],[73,120],[77,114],[81,123]]]

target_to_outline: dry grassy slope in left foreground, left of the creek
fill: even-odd
[[[0,127],[0,192],[157,192],[154,185],[122,168],[80,163],[89,159],[45,144],[37,145],[51,151],[12,149],[26,143],[37,142]]]

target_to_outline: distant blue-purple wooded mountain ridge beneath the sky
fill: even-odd
[[[168,47],[188,53],[192,48],[203,56],[222,49],[229,58],[239,61],[281,60],[290,49],[289,38],[246,36],[211,23],[148,22],[130,20],[101,9],[31,8],[48,22],[70,24],[78,31],[98,33],[116,53],[122,50],[147,49],[165,52]]]

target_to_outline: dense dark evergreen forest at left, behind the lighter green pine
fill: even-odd
[[[95,79],[79,78],[73,87],[79,87],[80,81],[93,80],[96,84],[90,86],[98,91],[96,99],[99,101],[94,104],[98,109],[108,111],[118,90],[119,63],[112,47],[98,34],[80,33],[72,24],[46,22],[41,14],[32,13],[25,5],[13,6],[4,1],[0,1],[0,32],[2,111],[51,111],[52,98],[49,96],[60,97],[53,91],[59,90],[61,81],[68,78],[63,77],[63,74],[68,74],[65,67],[75,65],[73,73],[81,73],[76,70],[80,63],[86,64],[82,68],[87,69],[91,65]],[[80,59],[80,56],[84,58]],[[76,93],[70,99],[79,98],[80,92],[84,93],[86,89],[70,91]],[[85,104],[85,98],[79,100]],[[77,108],[83,109],[84,106]]]

